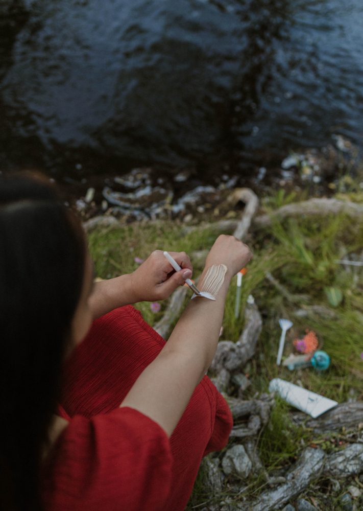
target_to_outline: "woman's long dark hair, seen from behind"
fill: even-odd
[[[0,508],[40,509],[40,453],[85,266],[80,223],[44,177],[0,179]]]

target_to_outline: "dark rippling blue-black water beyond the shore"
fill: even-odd
[[[0,51],[4,168],[362,142],[362,0],[1,0]]]

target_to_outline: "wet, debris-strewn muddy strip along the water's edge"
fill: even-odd
[[[361,152],[343,137],[321,150],[285,153],[277,164],[259,154],[245,160],[244,175],[231,166],[209,169],[201,177],[196,168],[166,172],[158,165],[132,168],[126,174],[107,173],[76,180],[57,180],[64,200],[84,221],[100,215],[136,220],[179,219],[198,224],[203,220],[234,218],[243,202],[232,207],[227,197],[232,189],[247,187],[259,197],[329,197],[348,191],[362,177]],[[263,159],[263,156],[265,159]],[[264,162],[265,166],[261,165]],[[363,187],[363,182],[361,184]],[[233,211],[232,211],[233,210]]]

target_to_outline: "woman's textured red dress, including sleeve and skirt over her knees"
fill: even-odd
[[[164,344],[127,306],[95,320],[66,360],[60,413],[69,425],[43,468],[46,511],[183,511],[202,456],[226,445],[233,421],[206,376],[170,439],[119,408]]]

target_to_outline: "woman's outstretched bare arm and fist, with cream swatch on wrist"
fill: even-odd
[[[215,301],[206,298],[190,301],[160,354],[144,369],[120,406],[139,410],[169,436],[173,433],[213,360],[231,278],[251,259],[248,246],[233,236],[222,235],[216,240],[201,277],[203,280],[213,264],[227,266]]]

